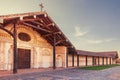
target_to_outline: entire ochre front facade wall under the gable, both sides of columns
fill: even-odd
[[[6,28],[13,31],[12,24]],[[17,33],[27,33],[31,40],[26,42],[17,37],[17,48],[31,51],[31,68],[48,68],[53,66],[53,47],[32,28],[17,25]],[[66,47],[56,46],[56,66],[66,66]],[[0,30],[0,70],[13,69],[13,38],[5,31]]]

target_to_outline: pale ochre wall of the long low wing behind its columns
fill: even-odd
[[[103,58],[99,57],[99,65],[103,65]],[[92,56],[87,56],[87,66],[92,66]],[[112,59],[111,59],[112,61]],[[115,60],[111,62],[115,64]],[[106,57],[104,57],[104,65],[110,64],[110,58],[108,58],[108,63],[106,63]],[[94,66],[98,65],[98,57],[94,57]],[[72,55],[68,55],[68,66],[72,66]],[[86,66],[86,56],[79,55],[79,67]],[[77,67],[77,55],[74,55],[74,67]]]

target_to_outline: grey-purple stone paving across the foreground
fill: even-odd
[[[100,71],[76,68],[14,74],[0,77],[0,80],[120,80],[120,67]]]

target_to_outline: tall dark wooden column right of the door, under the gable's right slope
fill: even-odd
[[[53,35],[53,69],[56,69],[56,37],[55,34]]]

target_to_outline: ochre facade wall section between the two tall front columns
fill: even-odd
[[[25,32],[31,37],[29,42],[21,41],[18,38],[18,48],[31,50],[31,68],[51,67],[53,62],[52,46],[29,27],[19,25],[17,33],[20,32]]]

